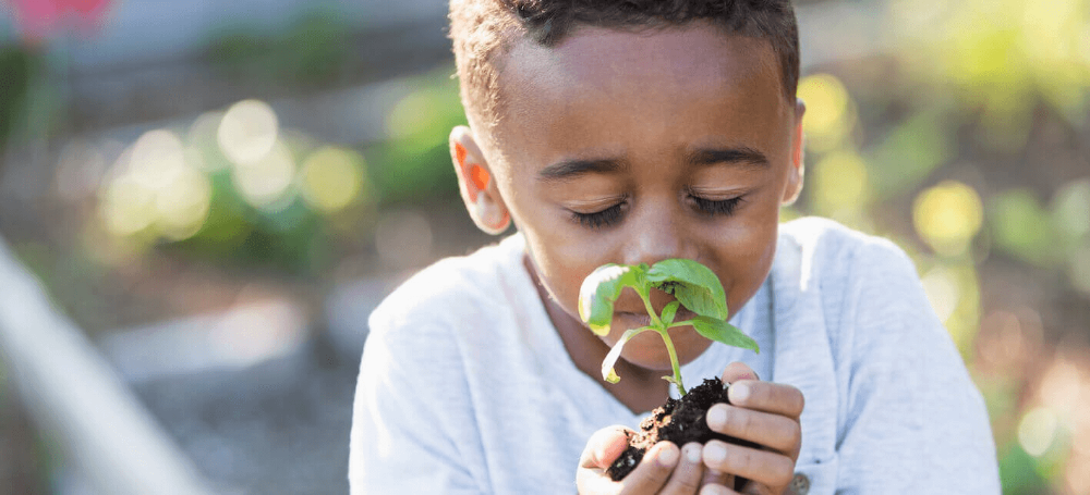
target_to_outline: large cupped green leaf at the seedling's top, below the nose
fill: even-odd
[[[697,314],[727,319],[727,295],[719,277],[697,261],[659,261],[647,271],[647,282],[671,294]]]

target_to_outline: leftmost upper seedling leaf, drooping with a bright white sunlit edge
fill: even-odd
[[[579,318],[597,335],[609,333],[614,302],[625,287],[637,288],[646,284],[646,265],[626,267],[603,264],[579,288]]]

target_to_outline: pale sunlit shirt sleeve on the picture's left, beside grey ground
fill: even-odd
[[[376,312],[356,383],[349,450],[353,495],[484,492],[457,343],[441,329]]]

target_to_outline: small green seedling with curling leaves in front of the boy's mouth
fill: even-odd
[[[663,337],[670,357],[670,367],[674,369],[674,375],[663,376],[663,380],[673,383],[679,396],[686,395],[686,388],[681,383],[681,366],[674,350],[669,329],[692,325],[698,333],[712,341],[760,351],[756,342],[726,322],[727,296],[719,279],[707,267],[686,259],[663,260],[651,267],[646,263],[634,265],[609,263],[594,270],[583,280],[583,285],[579,289],[579,317],[592,332],[603,336],[609,333],[614,302],[625,287],[631,287],[643,299],[643,305],[651,317],[651,324],[626,331],[609,349],[606,359],[602,361],[602,378],[609,383],[620,381],[614,364],[620,358],[625,344],[644,332],[658,332]],[[651,306],[652,288],[664,290],[677,299],[667,304],[662,314],[656,313]],[[674,321],[681,306],[697,317]]]

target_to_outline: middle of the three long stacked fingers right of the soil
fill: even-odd
[[[716,404],[707,410],[705,421],[714,432],[748,440],[784,454],[794,454],[802,442],[798,420],[779,414]]]

